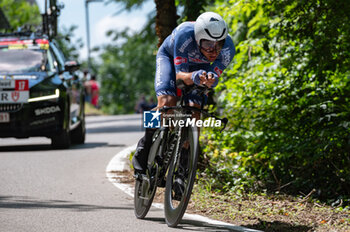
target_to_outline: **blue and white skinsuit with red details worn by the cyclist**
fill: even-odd
[[[228,35],[220,54],[213,63],[200,52],[194,36],[194,22],[184,22],[176,27],[159,48],[157,54],[157,67],[155,76],[155,91],[158,96],[177,96],[176,73],[194,72],[205,70],[213,72],[215,83],[218,84],[219,77],[224,69],[230,64],[235,55],[235,46]],[[199,104],[201,98],[192,93],[189,95],[190,102]]]

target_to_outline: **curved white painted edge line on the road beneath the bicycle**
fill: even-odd
[[[116,177],[121,177],[120,175],[117,175],[116,172],[122,172],[125,170],[128,170],[129,167],[127,165],[127,160],[129,159],[129,154],[134,151],[136,149],[136,144],[130,147],[127,147],[126,149],[122,150],[121,152],[119,152],[118,154],[116,154],[111,161],[108,163],[107,168],[106,168],[106,176],[108,178],[108,180],[110,182],[112,182],[112,184],[114,186],[116,186],[117,188],[121,189],[122,191],[124,191],[126,194],[128,194],[131,197],[134,197],[134,186],[133,185],[129,185],[129,184],[123,184],[123,183],[119,183],[118,181],[116,181]],[[156,208],[164,208],[164,205],[161,203],[153,203],[152,206],[156,207]],[[217,220],[213,220],[201,215],[196,215],[196,214],[188,214],[185,213],[184,218],[186,219],[190,219],[190,220],[196,220],[196,221],[201,221],[201,222],[205,222],[208,224],[212,224],[212,225],[218,225],[218,226],[222,226],[225,227],[227,229],[230,230],[234,230],[234,231],[240,231],[240,232],[261,232],[261,230],[254,230],[254,229],[249,229],[249,228],[245,228],[242,226],[237,226],[234,224],[229,224],[226,222],[221,222],[221,221],[217,221]]]

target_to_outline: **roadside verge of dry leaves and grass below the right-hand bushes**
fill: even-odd
[[[132,155],[133,152],[130,161]],[[124,175],[132,176],[132,173]],[[197,178],[187,213],[266,232],[350,232],[349,207],[331,207],[308,196],[294,197],[278,192],[237,196],[213,191],[209,183]],[[163,202],[163,191],[158,188],[154,202]]]

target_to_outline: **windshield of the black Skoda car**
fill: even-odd
[[[43,71],[46,60],[45,50],[0,48],[0,73]]]

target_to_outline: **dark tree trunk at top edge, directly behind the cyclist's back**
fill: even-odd
[[[156,33],[158,36],[158,47],[162,45],[165,38],[171,34],[177,26],[175,0],[154,0],[157,9]]]

